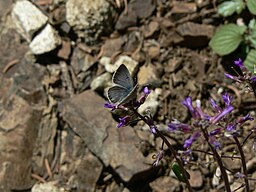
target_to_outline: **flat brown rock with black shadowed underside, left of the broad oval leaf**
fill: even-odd
[[[214,34],[212,25],[197,24],[187,22],[177,27],[177,32],[183,40],[178,44],[191,48],[201,48],[208,45],[209,40]]]

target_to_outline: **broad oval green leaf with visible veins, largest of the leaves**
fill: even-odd
[[[237,49],[245,30],[246,26],[224,25],[214,34],[209,45],[217,54],[228,55]]]

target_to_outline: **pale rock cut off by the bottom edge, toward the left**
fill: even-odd
[[[33,186],[31,192],[67,192],[64,188],[58,187],[56,181],[38,183]]]

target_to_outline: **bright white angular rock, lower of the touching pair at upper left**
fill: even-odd
[[[53,51],[61,44],[61,38],[57,31],[50,25],[46,27],[32,40],[29,47],[33,54],[40,55]]]

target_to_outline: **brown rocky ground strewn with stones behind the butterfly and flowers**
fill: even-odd
[[[124,63],[152,90],[141,110],[150,108],[166,134],[173,118],[189,120],[181,104],[188,95],[209,107],[210,97],[227,91],[235,96],[236,114],[254,114],[253,95],[224,77],[223,63],[232,65],[234,58],[224,62],[208,46],[223,23],[217,4],[0,1],[1,191],[185,191],[171,171],[171,154],[152,166],[162,143],[146,125],[116,128],[118,114],[104,108],[106,90]],[[186,136],[168,138],[179,150]],[[253,178],[252,142],[244,150]],[[234,149],[230,143],[223,153]],[[241,168],[236,159],[225,163]],[[197,154],[187,170],[195,191],[224,191],[212,156]],[[240,186],[232,175],[230,181],[233,189]]]

